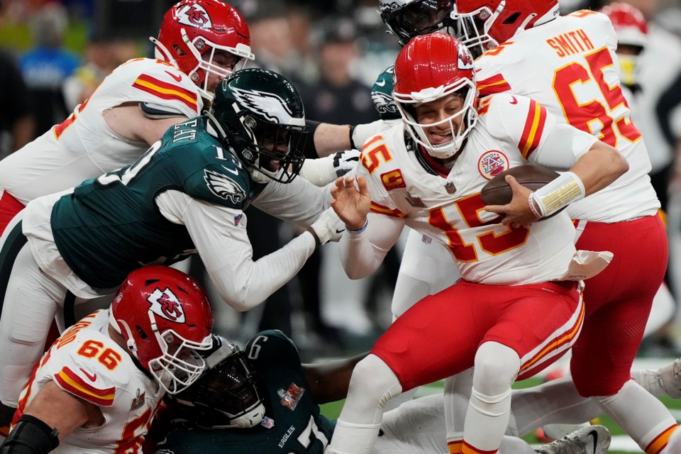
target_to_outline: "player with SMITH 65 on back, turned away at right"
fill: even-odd
[[[663,282],[668,243],[646,145],[619,84],[613,26],[596,11],[560,16],[557,0],[461,0],[453,18],[463,42],[485,52],[476,60],[481,96],[529,96],[560,123],[619,148],[629,163],[614,184],[567,207],[577,248],[614,254],[585,282],[586,317],[570,373],[579,394],[597,399],[646,453],[658,453],[676,421],[630,370]]]

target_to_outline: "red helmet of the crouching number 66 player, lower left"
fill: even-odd
[[[111,304],[111,326],[170,394],[192,384],[205,363],[196,350],[213,344],[213,310],[184,272],[158,265],[131,272]]]

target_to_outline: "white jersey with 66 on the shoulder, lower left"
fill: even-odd
[[[19,397],[21,413],[47,382],[99,407],[104,423],[77,428],[52,453],[142,453],[144,436],[164,392],[128,352],[106,334],[109,311],[100,310],[52,344]]]

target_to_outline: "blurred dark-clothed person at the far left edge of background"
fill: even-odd
[[[27,96],[13,57],[0,52],[0,158],[33,140],[35,123],[26,105]]]

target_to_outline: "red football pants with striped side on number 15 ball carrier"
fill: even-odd
[[[518,353],[523,379],[574,343],[583,309],[576,282],[509,286],[461,280],[414,304],[371,353],[389,365],[406,391],[472,367],[477,348],[495,341]]]

